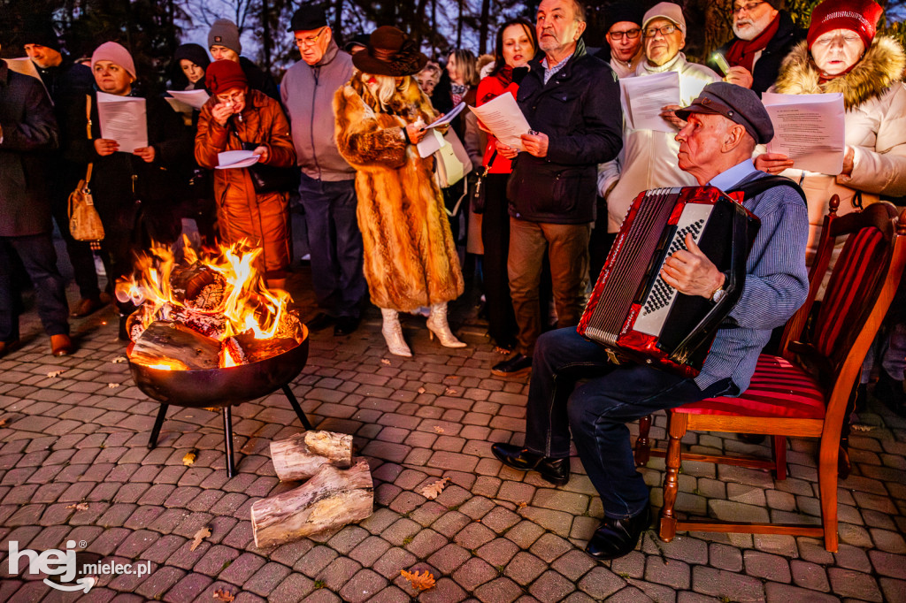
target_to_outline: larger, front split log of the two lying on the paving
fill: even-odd
[[[365,519],[374,506],[364,461],[342,470],[325,464],[295,490],[252,504],[255,546],[266,549]]]

